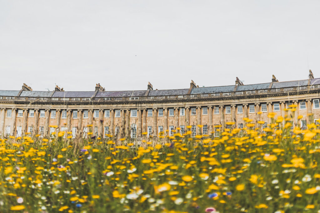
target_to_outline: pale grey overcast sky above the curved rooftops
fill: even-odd
[[[320,77],[320,1],[0,0],[0,89]]]

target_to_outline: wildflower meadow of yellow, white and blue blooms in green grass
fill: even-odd
[[[320,212],[319,126],[268,116],[263,132],[246,119],[220,137],[188,126],[143,133],[141,145],[70,132],[1,139],[0,212]]]

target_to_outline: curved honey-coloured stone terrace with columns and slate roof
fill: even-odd
[[[307,80],[278,82],[273,76],[268,83],[244,85],[236,78],[235,85],[219,87],[197,87],[191,81],[189,88],[171,90],[153,90],[149,83],[147,90],[137,91],[105,91],[97,84],[92,92],[59,87],[44,92],[23,84],[21,90],[0,90],[0,135],[48,136],[68,131],[74,137],[86,137],[87,126],[92,125],[96,136],[110,133],[138,141],[144,132],[157,137],[169,130],[172,135],[178,127],[184,133],[186,126],[192,126],[192,136],[218,137],[218,129],[243,128],[243,118],[252,119],[256,127],[264,121],[262,131],[270,123],[269,112],[288,115],[292,126],[305,128],[320,118],[319,92],[320,78],[315,79],[311,70]],[[292,104],[298,105],[294,113],[286,110]],[[299,115],[303,116],[300,120]]]

